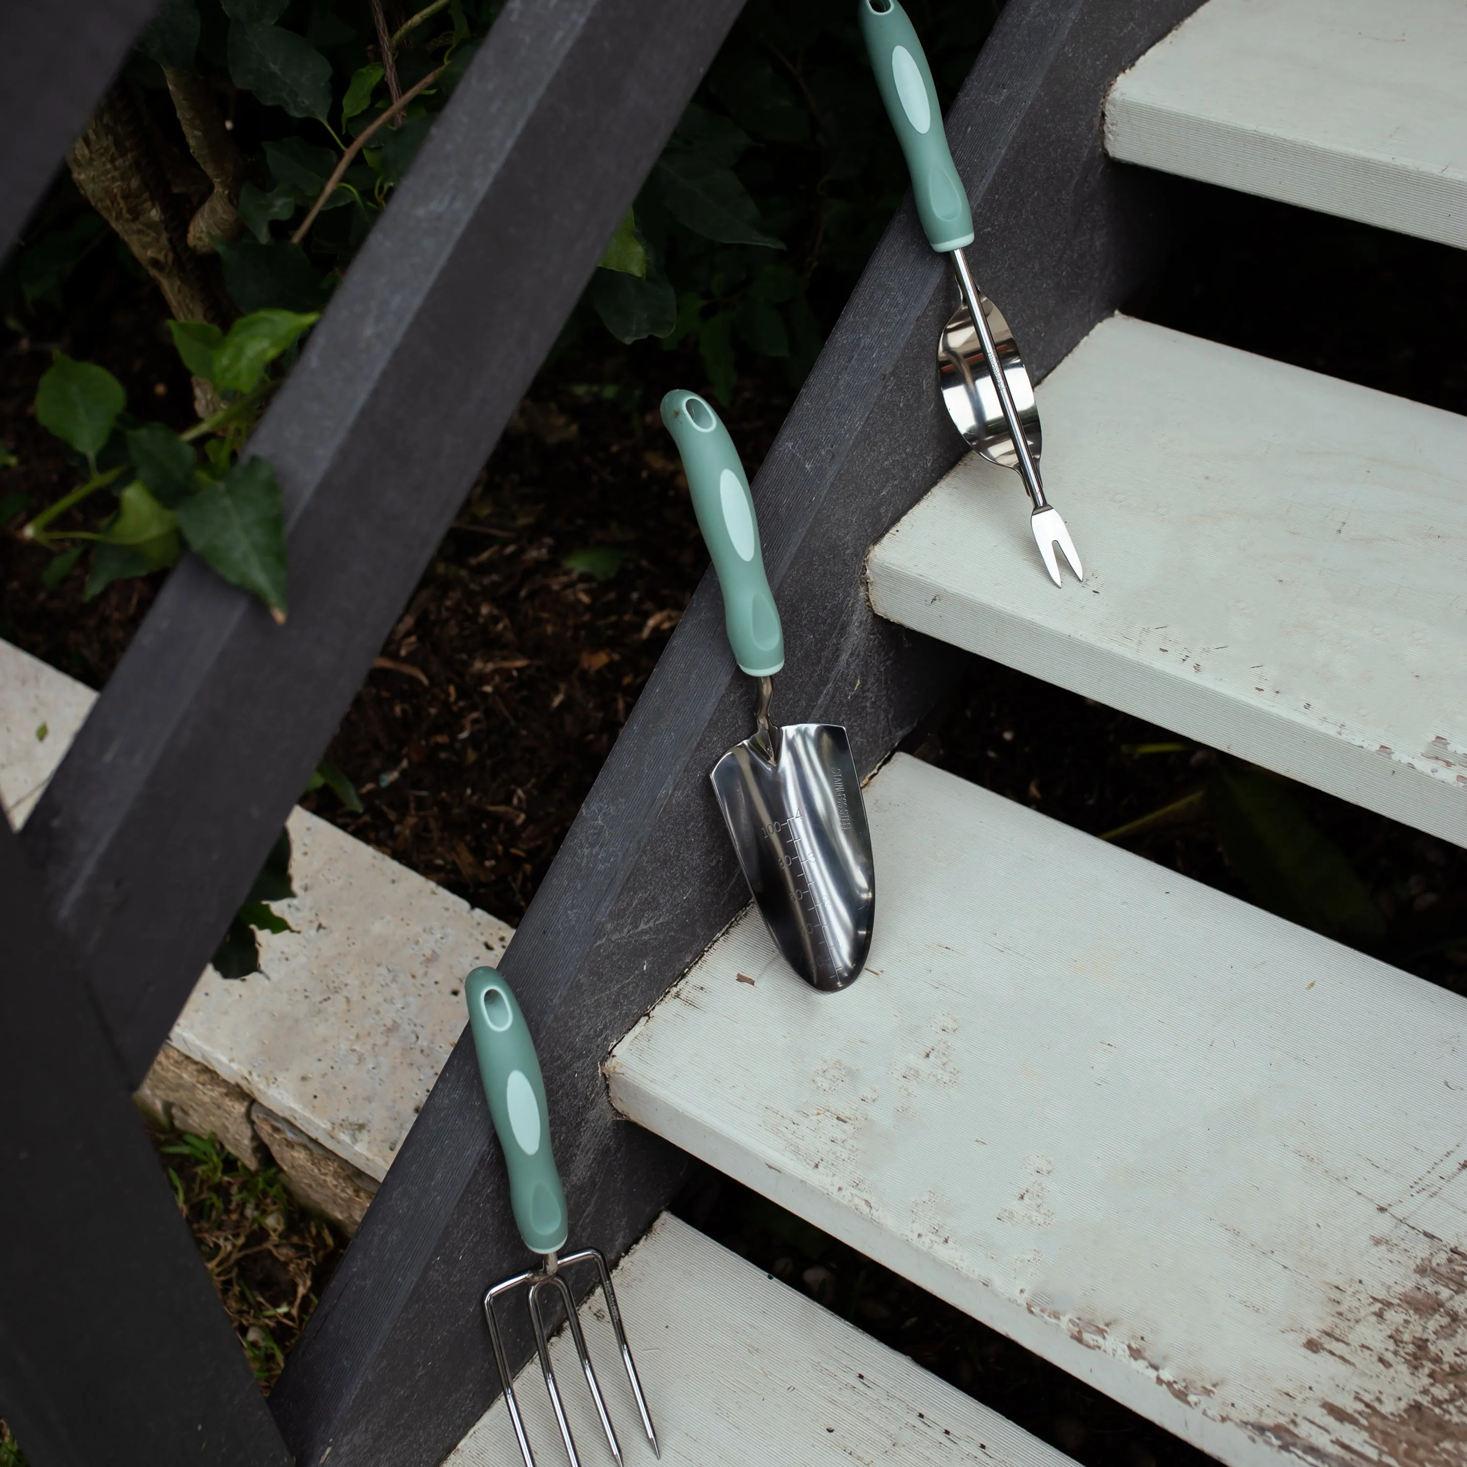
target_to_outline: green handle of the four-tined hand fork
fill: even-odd
[[[568,1231],[565,1188],[550,1153],[550,1112],[540,1056],[515,995],[494,968],[464,984],[478,1074],[509,1168],[509,1204],[533,1253],[559,1253]]]

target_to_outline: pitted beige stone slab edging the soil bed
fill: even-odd
[[[94,698],[0,641],[0,798],[16,824]],[[464,976],[513,933],[305,810],[289,830],[296,896],[276,910],[295,932],[258,933],[248,978],[207,968],[170,1039],[380,1181],[464,1030]]]

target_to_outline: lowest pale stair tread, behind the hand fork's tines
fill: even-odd
[[[1074,1467],[1071,1458],[663,1215],[616,1269],[663,1467]],[[581,1310],[628,1467],[650,1464],[600,1295]],[[571,1432],[610,1461],[565,1331],[550,1344]],[[540,1367],[515,1380],[535,1461],[565,1461]],[[503,1401],[445,1467],[518,1467]]]

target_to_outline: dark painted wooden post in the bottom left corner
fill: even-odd
[[[32,1467],[288,1467],[3,817],[0,930],[0,1416]]]

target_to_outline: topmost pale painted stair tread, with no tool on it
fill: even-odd
[[[1209,0],[1116,81],[1106,150],[1464,248],[1464,75],[1460,0]]]

